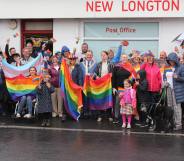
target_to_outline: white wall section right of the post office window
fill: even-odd
[[[170,53],[174,46],[180,45],[180,43],[172,42],[172,40],[184,32],[184,18],[161,19],[159,32],[159,51],[165,50]]]

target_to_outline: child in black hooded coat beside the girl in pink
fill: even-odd
[[[137,87],[137,107],[140,116],[140,126],[145,127],[147,108],[149,106],[149,103],[151,102],[151,97],[148,92],[148,81],[146,80],[145,70],[140,70],[137,73],[135,84]]]

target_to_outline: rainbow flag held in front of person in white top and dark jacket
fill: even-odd
[[[86,76],[83,92],[87,99],[87,107],[91,110],[106,110],[112,108],[112,84],[111,74],[107,74],[97,80]]]

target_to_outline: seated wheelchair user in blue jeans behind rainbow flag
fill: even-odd
[[[37,77],[37,70],[35,67],[31,67],[29,69],[29,78],[31,78],[32,80],[34,80]],[[21,117],[21,113],[23,110],[23,107],[26,106],[28,108],[28,113],[24,115],[24,118],[31,118],[32,117],[32,101],[33,99],[35,99],[35,96],[32,95],[25,95],[22,96],[18,105],[18,110],[17,110],[17,114],[16,114],[16,118],[20,118]]]

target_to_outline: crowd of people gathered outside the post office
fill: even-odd
[[[160,52],[159,58],[151,51],[140,52],[132,50],[132,53],[124,53],[127,41],[122,41],[116,53],[113,50],[101,51],[101,61],[96,62],[93,51],[87,43],[81,46],[81,52],[70,51],[63,46],[61,51],[52,53],[53,41],[42,42],[40,47],[34,48],[33,40],[26,41],[22,53],[9,48],[10,39],[7,40],[5,52],[0,53],[0,59],[6,59],[9,64],[19,67],[31,62],[39,54],[43,56],[44,75],[43,80],[36,87],[35,96],[25,95],[20,98],[16,118],[31,118],[33,115],[33,100],[37,97],[41,126],[50,126],[51,117],[59,117],[66,120],[66,111],[63,98],[60,94],[60,65],[62,59],[66,59],[72,80],[79,86],[83,86],[85,75],[93,79],[99,79],[108,73],[112,73],[113,108],[107,110],[92,111],[83,100],[81,119],[96,117],[97,122],[105,118],[109,122],[118,124],[122,121],[122,128],[130,129],[132,120],[137,126],[153,128],[155,108],[160,103],[163,90],[166,91],[165,108],[172,109],[172,122],[170,128],[182,129],[182,105],[184,102],[184,55],[183,48],[177,47],[169,54]],[[166,70],[167,69],[167,70]],[[28,77],[34,79],[37,69],[31,67]],[[2,68],[0,68],[0,109],[6,112],[7,102],[11,99],[6,89],[6,81]],[[23,113],[23,107],[27,107],[27,113]],[[151,110],[150,110],[151,108]],[[148,112],[149,111],[149,112]],[[153,120],[147,119],[150,115]],[[121,117],[120,117],[121,116]]]

